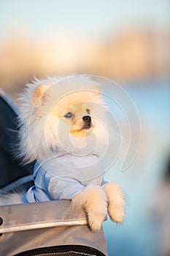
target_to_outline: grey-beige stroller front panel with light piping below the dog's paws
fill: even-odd
[[[98,252],[86,255],[107,255],[103,230],[93,233],[85,212],[72,209],[70,200],[1,206],[0,217],[1,256],[66,245],[88,246]]]

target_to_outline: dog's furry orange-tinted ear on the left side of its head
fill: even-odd
[[[45,104],[45,102],[47,102],[47,99],[49,98],[47,89],[49,89],[49,87],[50,87],[49,85],[44,83],[36,86],[34,95],[32,97],[32,105],[34,105],[34,107],[41,107],[42,105]]]

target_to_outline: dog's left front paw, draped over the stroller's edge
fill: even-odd
[[[91,230],[98,231],[107,216],[107,197],[99,186],[88,186],[72,198],[74,208],[83,208]]]

